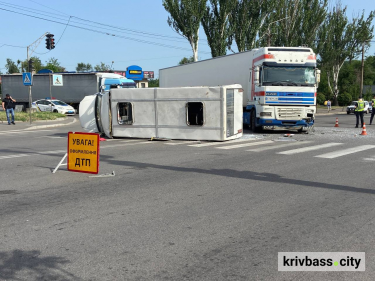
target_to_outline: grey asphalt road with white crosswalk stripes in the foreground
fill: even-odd
[[[101,141],[112,177],[51,173],[78,122],[0,132],[0,279],[373,280],[375,126],[335,117],[297,142]],[[279,251],[364,251],[365,271],[280,272]]]

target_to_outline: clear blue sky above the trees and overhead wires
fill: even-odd
[[[367,16],[370,8],[375,9],[372,0],[342,3],[347,5],[349,17],[362,9]],[[54,34],[55,48],[48,51],[43,38],[32,54],[43,63],[54,57],[68,71],[75,71],[78,62],[94,66],[100,61],[108,65],[114,61],[112,69],[125,70],[136,64],[154,71],[156,78],[158,69],[176,65],[182,57],[192,55],[187,40],[168,26],[167,16],[161,0],[0,0],[0,71],[6,71],[6,58],[25,59],[26,46],[48,31]],[[67,26],[68,20],[79,28]],[[202,28],[199,35],[198,56],[210,58]],[[374,53],[372,42],[367,54]]]

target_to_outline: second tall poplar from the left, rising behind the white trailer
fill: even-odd
[[[237,0],[209,0],[201,23],[212,57],[225,55],[231,42],[232,25],[229,18]]]

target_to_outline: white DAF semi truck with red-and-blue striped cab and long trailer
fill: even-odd
[[[243,123],[307,131],[314,123],[320,70],[307,47],[262,47],[159,70],[160,87],[241,84]]]

